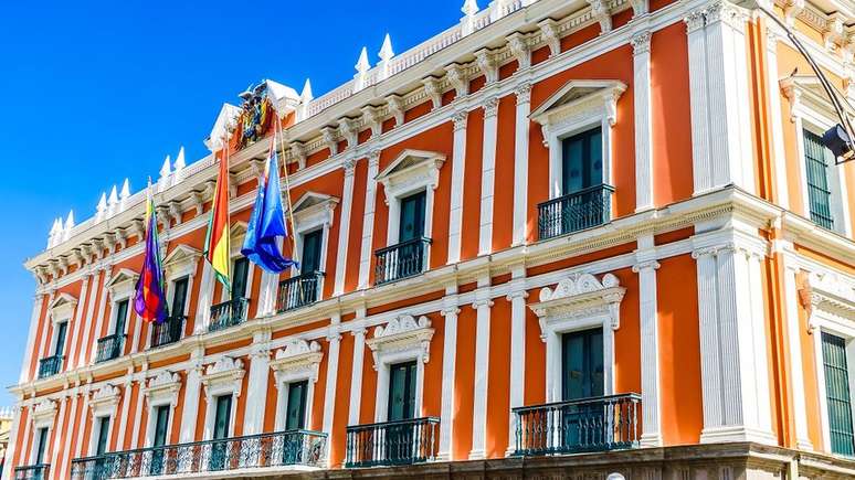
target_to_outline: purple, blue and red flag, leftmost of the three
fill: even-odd
[[[142,271],[137,279],[134,297],[134,311],[145,321],[162,322],[167,318],[166,289],[163,288],[163,269],[160,265],[160,243],[157,238],[157,213],[151,200],[151,181],[149,180],[146,199],[146,256],[142,259]]]

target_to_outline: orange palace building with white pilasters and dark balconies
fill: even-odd
[[[767,7],[855,100],[853,3]],[[379,58],[255,93],[299,271],[239,252],[273,131],[234,129],[250,99],[155,185],[167,322],[129,307],[145,192],[54,224],[7,478],[855,474],[855,162],[782,29],[468,0]],[[201,252],[226,149],[231,294]]]

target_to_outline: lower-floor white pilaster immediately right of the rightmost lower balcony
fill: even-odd
[[[656,303],[656,270],[653,236],[638,238],[638,262],[632,270],[638,274],[638,311],[641,314],[641,371],[642,371],[642,437],[645,447],[662,446],[659,409],[659,327]]]

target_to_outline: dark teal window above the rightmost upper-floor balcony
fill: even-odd
[[[561,140],[561,171],[564,195],[603,183],[602,127]]]

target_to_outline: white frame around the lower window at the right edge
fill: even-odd
[[[822,354],[822,332],[840,337],[846,342],[846,363],[849,374],[849,402],[855,423],[855,280],[831,271],[812,273],[802,291],[808,300],[808,331],[813,335],[814,366],[820,397],[820,423],[823,445],[831,454],[831,427],[828,424],[827,385]],[[855,425],[853,425],[855,428]]]

